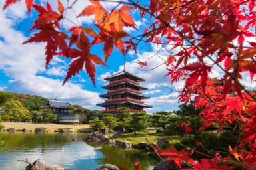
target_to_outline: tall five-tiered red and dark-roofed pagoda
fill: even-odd
[[[144,112],[144,108],[151,108],[143,102],[143,99],[149,98],[142,94],[142,90],[147,88],[140,86],[140,82],[145,81],[125,70],[113,76],[104,78],[109,81],[107,86],[102,88],[107,90],[106,94],[99,95],[106,98],[105,102],[97,104],[97,106],[104,107],[102,113],[118,114],[119,108],[128,108],[130,112]]]

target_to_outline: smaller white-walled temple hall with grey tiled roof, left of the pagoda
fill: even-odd
[[[70,114],[69,111],[73,108],[67,104],[67,102],[60,102],[57,100],[49,100],[46,106],[43,106],[44,110],[51,110],[51,114],[58,116],[59,124],[79,124],[80,120],[75,114]]]

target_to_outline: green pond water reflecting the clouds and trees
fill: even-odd
[[[102,143],[85,143],[84,133],[0,133],[0,169],[25,169],[26,158],[32,163],[42,159],[65,170],[94,170],[105,163],[134,169],[153,169],[158,159],[144,151],[125,150]],[[72,141],[72,139],[76,139]]]

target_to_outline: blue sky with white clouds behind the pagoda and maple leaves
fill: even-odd
[[[65,2],[63,0],[64,4]],[[77,14],[83,10],[86,4],[89,4],[89,1],[77,1],[74,5]],[[52,5],[56,6],[56,4]],[[104,3],[103,5],[113,7],[115,3]],[[0,6],[3,6],[3,1],[0,2]],[[104,100],[104,98],[99,98],[99,94],[106,92],[101,88],[107,84],[103,78],[123,70],[123,54],[114,50],[106,67],[96,67],[95,87],[84,70],[68,80],[65,86],[62,86],[70,60],[56,56],[50,63],[48,70],[45,70],[45,44],[22,45],[22,42],[28,39],[30,34],[27,31],[33,25],[34,15],[35,13],[32,13],[31,16],[27,15],[23,2],[11,5],[5,11],[0,10],[0,90],[41,95],[45,98],[56,98],[71,104],[80,104],[92,110],[102,110],[103,108],[97,107],[96,104]],[[75,21],[75,15],[72,11],[67,12],[66,16]],[[133,16],[137,28],[139,31],[143,31],[147,25],[147,19],[139,19],[137,13],[133,13]],[[81,17],[78,21],[83,25],[91,25],[93,17]],[[72,23],[64,21],[63,25],[71,26]],[[134,29],[125,29],[132,35],[136,34]],[[102,46],[91,49],[91,52],[103,57]],[[149,113],[160,110],[175,110],[181,104],[178,103],[179,94],[176,91],[182,89],[183,82],[177,82],[171,86],[170,78],[164,77],[167,74],[165,64],[151,71],[141,71],[139,64],[136,63],[138,60],[147,60],[148,66],[145,69],[155,68],[163,63],[159,56],[167,58],[169,54],[161,45],[142,42],[137,49],[137,54],[131,51],[126,56],[126,70],[146,80],[141,85],[148,88],[148,90],[143,91],[143,94],[151,97],[145,100],[146,104],[153,106],[153,108],[146,110]],[[212,74],[213,76],[220,75],[217,68]],[[245,84],[247,82],[249,81],[246,80]],[[248,86],[255,88],[255,85],[248,84]],[[175,91],[171,91],[171,89]]]

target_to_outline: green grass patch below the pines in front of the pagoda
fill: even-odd
[[[155,130],[149,130],[148,132],[137,132],[137,135],[134,135],[133,133],[124,133],[123,137],[119,137],[116,139],[116,141],[130,141],[133,144],[140,143],[141,141],[149,141],[149,143],[157,143],[157,139],[160,138],[166,138],[168,141],[173,143],[180,143],[182,140],[181,136],[167,136],[163,134],[157,134],[155,133]]]

